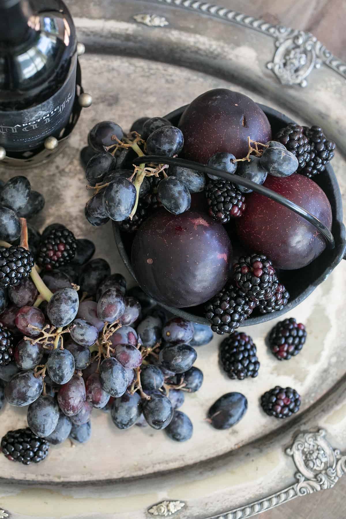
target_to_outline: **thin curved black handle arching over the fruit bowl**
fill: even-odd
[[[268,187],[261,186],[259,184],[255,184],[255,182],[252,182],[251,180],[244,179],[242,176],[239,175],[233,175],[230,173],[227,173],[226,171],[221,171],[216,168],[211,168],[210,166],[205,166],[204,164],[200,164],[198,162],[194,162],[193,160],[185,160],[181,158],[173,158],[173,157],[160,157],[158,155],[145,155],[144,157],[138,157],[133,160],[133,164],[140,165],[142,163],[154,163],[154,164],[168,164],[170,166],[179,166],[181,168],[189,168],[189,169],[195,169],[200,171],[201,173],[210,173],[211,175],[219,176],[221,179],[228,180],[229,182],[232,182],[232,184],[239,184],[241,186],[248,187],[252,189],[253,191],[256,191],[256,193],[259,193],[261,195],[265,195],[268,198],[271,198],[275,202],[281,203],[282,206],[286,207],[287,209],[290,209],[291,211],[294,211],[296,214],[299,214],[302,218],[305,218],[310,224],[314,225],[317,230],[320,231],[320,233],[323,235],[324,239],[326,240],[328,249],[334,249],[335,248],[335,241],[333,234],[331,234],[328,227],[326,227],[316,216],[311,214],[306,209],[303,209],[300,206],[297,206],[296,203],[291,202],[288,200],[288,198],[283,197],[282,195],[279,195],[278,193],[275,193],[275,191],[272,191],[271,189],[268,189]],[[346,256],[344,257],[346,259]]]

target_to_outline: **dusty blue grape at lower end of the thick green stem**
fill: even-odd
[[[61,327],[70,324],[77,315],[79,305],[78,293],[72,288],[57,290],[47,306],[47,315],[53,326]]]

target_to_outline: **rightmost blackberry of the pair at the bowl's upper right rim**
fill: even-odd
[[[305,168],[299,170],[299,173],[312,179],[326,169],[328,162],[334,157],[336,144],[326,139],[320,126],[312,126],[311,128],[303,126],[303,132],[309,139],[311,151],[310,160],[307,161]]]

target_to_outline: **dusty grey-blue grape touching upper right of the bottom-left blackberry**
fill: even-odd
[[[46,438],[57,427],[59,405],[52,397],[39,397],[27,408],[27,425],[36,436]]]

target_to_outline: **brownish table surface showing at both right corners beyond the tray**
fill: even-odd
[[[346,61],[345,0],[218,0],[215,3],[270,23],[311,32],[335,56]],[[295,499],[258,517],[345,519],[345,494],[346,475],[330,490]]]

